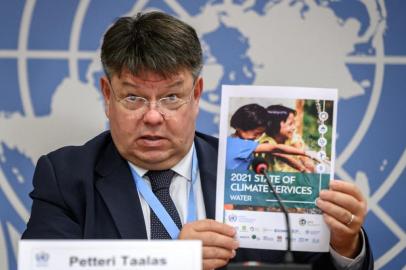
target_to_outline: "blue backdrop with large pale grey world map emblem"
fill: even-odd
[[[98,90],[102,34],[118,16],[149,9],[198,30],[205,55],[200,131],[218,132],[221,84],[339,89],[336,175],[368,198],[376,268],[405,269],[402,0],[2,1],[0,269],[16,269],[38,157],[107,126]]]

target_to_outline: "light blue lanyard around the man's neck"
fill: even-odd
[[[130,166],[131,167],[131,166]],[[193,146],[193,158],[192,158],[192,181],[189,188],[189,198],[188,198],[188,215],[187,215],[187,223],[193,222],[197,219],[197,211],[196,211],[196,200],[194,196],[193,186],[197,179],[197,156],[196,151]],[[147,202],[149,207],[154,211],[155,215],[164,225],[166,231],[169,233],[172,239],[177,239],[179,235],[179,228],[176,226],[175,222],[171,218],[171,216],[166,211],[165,207],[159,201],[159,199],[155,196],[152,192],[151,188],[144,182],[141,176],[131,167],[131,173],[133,175],[135,185],[137,187],[138,192],[141,193],[144,200]]]

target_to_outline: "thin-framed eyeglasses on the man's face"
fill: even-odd
[[[193,82],[190,95],[185,99],[179,98],[177,95],[173,94],[167,97],[160,98],[157,101],[149,101],[144,97],[132,94],[124,98],[119,98],[117,97],[110,81],[109,86],[115,100],[121,103],[127,110],[136,113],[139,117],[143,116],[149,110],[150,105],[154,104],[155,110],[157,110],[165,119],[168,119],[174,116],[180,107],[182,107],[186,103],[189,103],[192,100],[192,95],[196,87],[196,82],[195,81]]]

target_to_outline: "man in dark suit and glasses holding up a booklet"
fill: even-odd
[[[213,220],[218,140],[195,131],[203,90],[195,30],[160,12],[120,18],[104,36],[101,59],[110,131],[39,159],[23,238],[198,239],[204,269],[280,262],[281,251],[239,249],[234,228]],[[359,189],[333,181],[318,206],[331,229],[330,253],[296,252],[295,260],[372,269]]]

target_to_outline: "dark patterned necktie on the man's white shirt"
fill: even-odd
[[[176,226],[181,229],[182,223],[179,218],[179,213],[176,210],[171,196],[169,195],[169,186],[175,172],[172,170],[163,171],[148,171],[147,176],[151,182],[152,192],[165,207],[168,214],[172,217]],[[166,231],[164,225],[158,219],[154,211],[150,208],[151,213],[151,239],[171,239],[171,236]]]

